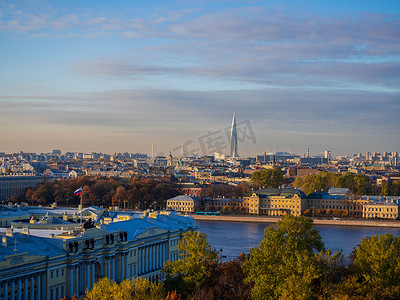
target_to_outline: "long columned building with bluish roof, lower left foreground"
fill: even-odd
[[[102,277],[116,282],[164,279],[162,265],[178,259],[193,218],[169,212],[82,230],[0,230],[0,299],[34,300],[82,295]]]

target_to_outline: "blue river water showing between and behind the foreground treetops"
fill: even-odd
[[[207,234],[208,242],[227,260],[235,259],[240,253],[248,253],[250,248],[258,246],[264,236],[264,228],[272,224],[246,222],[196,221],[199,230]],[[333,252],[342,250],[348,256],[361,239],[374,234],[392,233],[400,236],[400,228],[364,227],[364,226],[328,226],[317,225],[325,248]]]

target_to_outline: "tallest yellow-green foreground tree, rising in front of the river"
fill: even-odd
[[[315,251],[323,251],[313,221],[304,216],[283,216],[277,228],[267,227],[264,239],[250,250],[243,267],[253,283],[254,299],[308,299],[315,295],[313,281],[321,272]]]

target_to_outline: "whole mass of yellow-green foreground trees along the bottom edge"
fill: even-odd
[[[86,299],[400,299],[400,237],[392,234],[364,238],[345,260],[324,250],[311,219],[288,215],[232,261],[219,261],[200,232],[186,233],[178,250],[164,267],[166,291],[141,277],[103,278]]]

